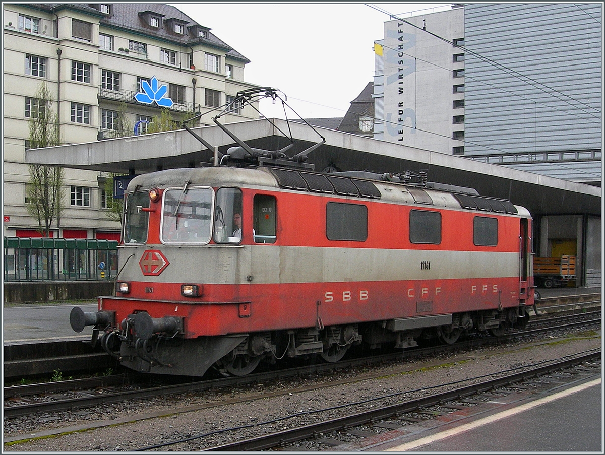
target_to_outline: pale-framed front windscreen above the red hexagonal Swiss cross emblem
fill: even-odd
[[[182,188],[164,191],[162,206],[163,243],[208,243],[212,220],[211,188]]]

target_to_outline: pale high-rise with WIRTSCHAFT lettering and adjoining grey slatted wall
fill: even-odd
[[[601,185],[601,3],[402,19],[377,42],[374,137]]]

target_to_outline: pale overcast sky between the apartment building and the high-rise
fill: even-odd
[[[374,76],[375,40],[389,16],[363,3],[187,2],[171,4],[244,54],[246,82],[277,88],[302,117],[343,117]],[[375,4],[394,15],[444,3]],[[280,103],[281,104],[281,103]],[[266,117],[281,106],[261,102]],[[291,117],[292,112],[288,113]]]

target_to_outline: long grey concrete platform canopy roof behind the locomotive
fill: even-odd
[[[294,155],[319,141],[318,135],[302,123],[266,119],[226,124],[229,131],[248,145],[276,150],[289,143],[281,131],[291,131]],[[276,128],[277,127],[277,128]],[[384,142],[332,129],[315,127],[325,137],[324,145],[309,153],[307,163],[321,172],[327,166],[342,171],[428,172],[429,182],[475,188],[479,194],[505,198],[525,206],[532,215],[601,215],[601,188],[558,178],[476,162],[463,157],[431,152]],[[206,142],[226,153],[237,145],[218,126],[194,129]],[[144,174],[159,169],[198,167],[209,163],[213,151],[201,145],[184,129],[156,134],[108,139],[98,142],[30,149],[27,163],[115,172]]]

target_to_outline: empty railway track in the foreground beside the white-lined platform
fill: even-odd
[[[577,365],[587,364],[587,367],[577,368]],[[287,421],[294,416],[280,417],[275,421],[260,422],[259,424],[246,425],[246,427],[255,427],[257,433],[266,433],[262,436],[249,437],[246,439],[233,440],[228,444],[211,445],[198,448],[200,451],[261,451],[261,450],[300,450],[301,445],[292,447],[293,443],[299,443],[303,440],[309,440],[315,445],[323,445],[324,450],[341,447],[341,450],[351,450],[345,441],[338,439],[339,435],[345,434],[358,436],[362,438],[377,436],[384,431],[401,428],[405,422],[420,422],[436,416],[443,415],[453,410],[460,410],[475,404],[485,402],[485,396],[488,399],[497,397],[499,394],[512,393],[506,388],[526,390],[528,381],[535,381],[541,376],[549,375],[553,372],[571,370],[570,375],[577,375],[580,372],[584,376],[599,375],[601,366],[601,349],[594,352],[582,353],[571,358],[560,359],[546,365],[532,365],[521,372],[514,372],[503,375],[499,378],[490,378],[477,382],[476,384],[463,385],[453,390],[442,391],[440,393],[422,396],[421,398],[404,400],[395,404],[380,405],[371,410],[354,412],[338,417],[319,418],[318,421],[308,425],[295,425],[286,430],[275,431],[275,424],[283,427]],[[548,381],[547,381],[548,382]],[[376,401],[384,397],[377,397]],[[481,399],[483,398],[483,400]],[[366,400],[366,402],[369,400]],[[358,405],[359,402],[350,403],[350,407]],[[339,410],[343,406],[339,406]],[[327,414],[336,408],[324,408],[316,413]],[[444,412],[445,411],[445,412]],[[310,414],[304,413],[310,420]],[[215,436],[221,433],[221,437],[226,439],[237,439],[238,431],[245,427],[226,428],[212,433],[200,434],[186,439],[154,445],[151,447],[140,448],[139,451],[155,450],[162,447],[172,446],[201,440]],[[227,434],[229,432],[229,434]],[[204,443],[202,443],[204,444]],[[308,449],[308,447],[307,447]],[[315,447],[315,450],[321,450]]]

